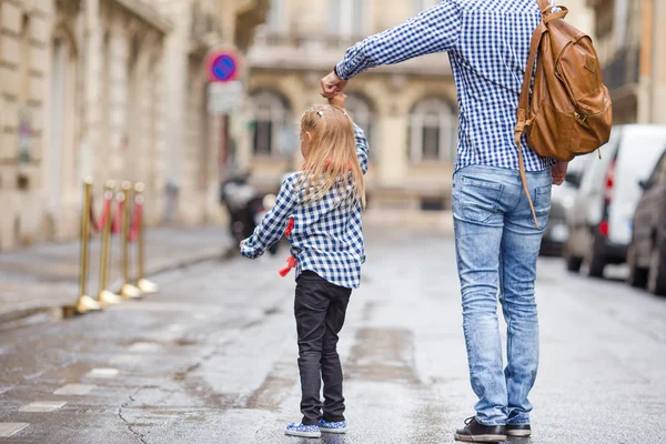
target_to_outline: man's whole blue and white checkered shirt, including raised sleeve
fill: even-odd
[[[373,67],[448,52],[460,110],[455,169],[517,170],[516,110],[539,20],[536,0],[444,0],[356,43],[335,71],[349,80]],[[525,170],[542,171],[554,163],[529,150],[525,135],[522,143]]]

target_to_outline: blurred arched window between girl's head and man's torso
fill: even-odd
[[[457,117],[442,99],[425,99],[410,115],[412,162],[453,162],[456,155]]]

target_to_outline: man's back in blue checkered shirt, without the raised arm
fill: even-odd
[[[518,169],[516,109],[532,33],[541,20],[535,0],[450,0],[460,13],[460,34],[450,59],[458,89],[456,169],[471,164]],[[427,13],[436,13],[436,9]],[[551,161],[523,141],[527,171]]]

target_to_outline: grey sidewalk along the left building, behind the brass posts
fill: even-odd
[[[99,291],[101,240],[95,235],[90,245],[88,295]],[[147,275],[161,273],[196,262],[222,258],[231,241],[223,226],[159,228],[148,231],[145,240]],[[0,323],[34,311],[72,304],[79,294],[80,243],[40,244],[0,253]],[[130,270],[137,270],[131,250]],[[120,280],[120,242],[112,240],[110,285]]]

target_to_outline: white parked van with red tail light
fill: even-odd
[[[567,269],[604,275],[607,264],[626,261],[632,218],[640,199],[639,181],[648,180],[664,147],[666,125],[623,125],[613,129],[602,159],[586,165],[574,196],[564,256]]]

